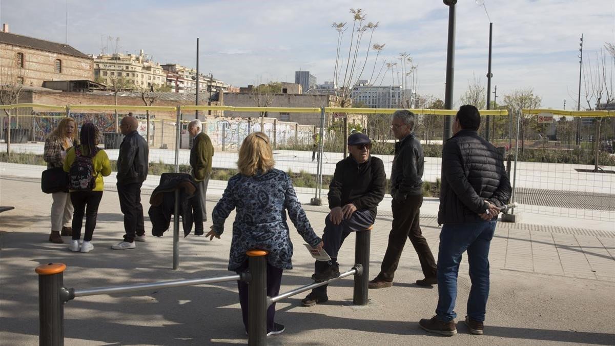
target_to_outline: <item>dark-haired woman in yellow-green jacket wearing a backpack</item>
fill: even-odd
[[[83,124],[79,134],[81,145],[70,148],[64,161],[64,171],[68,172],[68,190],[74,207],[73,241],[68,246],[73,252],[90,252],[94,248],[92,235],[96,227],[98,204],[103,198],[103,177],[111,174],[107,153],[97,147],[99,136],[100,132],[94,124]],[[85,235],[79,246],[84,214]]]

